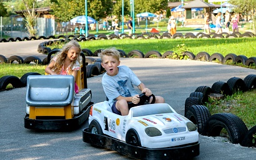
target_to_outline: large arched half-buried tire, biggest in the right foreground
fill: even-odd
[[[220,131],[226,129],[231,143],[242,143],[248,129],[244,122],[232,113],[217,113],[210,116],[205,123],[202,135],[220,136]]]

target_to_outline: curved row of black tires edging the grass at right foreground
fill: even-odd
[[[256,126],[248,130],[244,121],[232,113],[210,114],[204,106],[210,95],[232,95],[237,91],[245,92],[255,89],[256,75],[250,74],[242,80],[232,77],[227,82],[215,82],[212,87],[200,86],[185,100],[185,117],[197,125],[198,131],[204,136],[220,136],[222,129],[229,134],[231,143],[242,146],[255,147],[253,141]]]

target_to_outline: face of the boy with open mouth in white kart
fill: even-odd
[[[101,65],[107,71],[107,75],[114,76],[118,73],[117,66],[120,65],[120,60],[109,55],[104,55],[101,60]]]

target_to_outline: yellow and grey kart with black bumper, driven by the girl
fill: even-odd
[[[81,70],[74,92],[72,75],[29,75],[27,77],[26,116],[24,127],[38,130],[77,129],[89,117],[93,104],[92,93],[87,88],[86,58],[83,53]],[[48,62],[51,54],[48,55]]]

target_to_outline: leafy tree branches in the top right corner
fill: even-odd
[[[233,10],[237,13],[242,13],[246,16],[250,16],[252,20],[253,31],[255,34],[255,21],[256,21],[256,1],[255,0],[230,0],[230,4],[233,4],[235,7]]]

